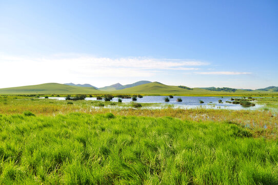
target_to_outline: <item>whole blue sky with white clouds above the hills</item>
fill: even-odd
[[[0,88],[278,86],[278,1],[1,1]]]

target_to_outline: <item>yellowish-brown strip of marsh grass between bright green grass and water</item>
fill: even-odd
[[[174,109],[163,106],[162,109],[148,109],[145,107],[158,106],[142,103],[142,108],[134,108],[132,103],[100,102],[100,101],[56,101],[53,99],[39,99],[36,97],[0,96],[0,114],[14,115],[30,111],[35,115],[56,116],[82,112],[91,115],[112,113],[120,116],[170,116],[189,121],[232,122],[248,127],[253,136],[277,138],[278,98],[260,98],[256,104],[267,104],[257,110],[227,110],[227,109]]]

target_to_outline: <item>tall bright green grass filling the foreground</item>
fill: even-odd
[[[0,115],[1,184],[277,184],[278,143],[239,125]]]

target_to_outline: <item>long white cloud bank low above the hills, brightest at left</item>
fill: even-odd
[[[59,54],[41,58],[0,53],[1,87],[47,82],[80,82],[100,78],[147,78],[165,70],[198,70],[208,65],[194,60],[154,58],[98,58],[85,54]],[[188,67],[190,66],[190,67]]]

